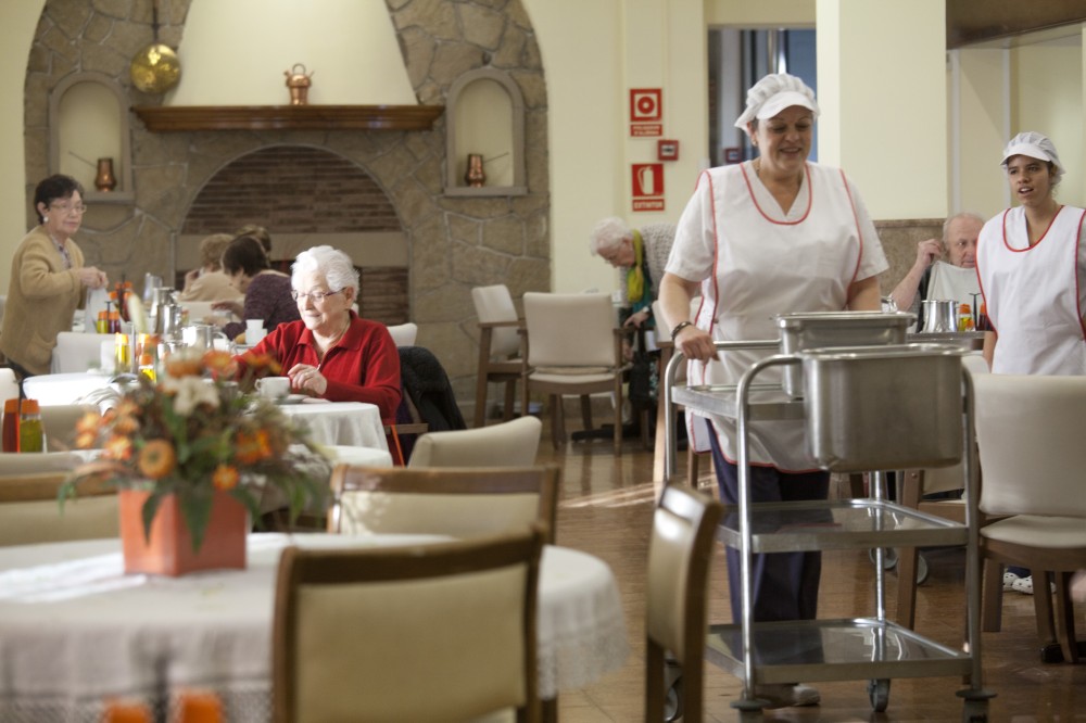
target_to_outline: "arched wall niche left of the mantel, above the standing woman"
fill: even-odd
[[[112,190],[96,186],[103,164],[112,170]],[[73,73],[49,94],[49,172],[72,176],[92,203],[135,199],[128,100],[101,73]]]

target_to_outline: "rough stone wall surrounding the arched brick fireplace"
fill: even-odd
[[[161,41],[184,41],[190,0],[160,3]],[[505,283],[513,295],[551,288],[546,88],[539,47],[519,0],[387,0],[404,63],[420,103],[444,104],[452,83],[491,66],[509,74],[526,104],[528,194],[450,198],[443,193],[445,122],[430,131],[201,131],[152,134],[132,116],[135,200],[93,203],[76,237],[88,263],[111,276],[172,278],[178,236],[205,183],[260,149],[324,149],[365,172],[395,208],[409,245],[409,306],[418,343],[441,359],[457,397],[473,396],[475,310],[470,290]],[[151,3],[47,0],[27,65],[27,208],[49,173],[49,93],[72,73],[97,72],[130,104],[156,105],[128,77],[149,43]],[[29,211],[27,224],[31,224]],[[247,219],[258,220],[258,219]],[[268,225],[268,224],[265,224]],[[273,239],[276,228],[268,225]]]

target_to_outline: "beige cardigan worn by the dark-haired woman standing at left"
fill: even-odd
[[[11,263],[0,352],[36,375],[49,373],[56,334],[71,331],[72,317],[85,297],[78,272],[83,251],[72,239],[65,245],[70,269],[49,233],[38,226],[20,242]]]

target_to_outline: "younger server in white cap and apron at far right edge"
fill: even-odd
[[[993,331],[995,373],[1086,375],[1086,212],[1053,198],[1063,175],[1056,147],[1019,134],[1001,162],[1018,206],[981,229],[976,274]]]

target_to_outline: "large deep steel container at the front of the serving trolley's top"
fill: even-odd
[[[800,352],[811,456],[834,472],[960,461],[963,353],[948,344]]]

